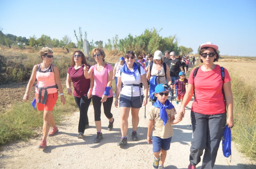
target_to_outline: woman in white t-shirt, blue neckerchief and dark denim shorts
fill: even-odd
[[[146,72],[136,63],[134,63],[135,55],[132,51],[125,54],[125,64],[117,74],[116,100],[115,107],[118,106],[118,96],[122,87],[120,96],[120,111],[121,111],[121,140],[117,143],[118,146],[127,144],[128,117],[131,109],[132,114],[132,141],[137,141],[137,127],[139,124],[139,110],[148,102],[148,83]],[[144,86],[144,96],[143,89]]]

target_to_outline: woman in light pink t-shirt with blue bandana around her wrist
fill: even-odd
[[[108,130],[113,129],[114,118],[111,113],[111,106],[113,102],[112,77],[113,68],[110,64],[104,62],[105,53],[103,49],[94,48],[91,52],[92,57],[97,62],[96,65],[90,67],[84,66],[84,77],[89,79],[94,78],[94,87],[92,89],[92,105],[94,108],[94,120],[97,129],[97,137],[94,142],[99,142],[102,137],[101,133],[101,103],[103,103],[104,114],[109,120]],[[88,70],[89,69],[89,70]]]

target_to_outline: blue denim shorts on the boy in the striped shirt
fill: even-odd
[[[152,141],[153,141],[153,152],[159,152],[161,148],[163,148],[163,150],[170,149],[172,137],[167,139],[161,139],[160,137],[153,136]]]

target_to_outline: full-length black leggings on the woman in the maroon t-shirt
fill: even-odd
[[[91,103],[91,98],[88,99],[87,96],[82,96],[82,97],[74,96],[74,98],[75,98],[75,102],[80,110],[78,133],[79,132],[84,133],[85,126],[89,124],[87,112],[88,112],[88,108]]]

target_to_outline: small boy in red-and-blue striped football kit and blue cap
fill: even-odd
[[[188,83],[188,79],[186,79],[185,76],[186,75],[184,72],[180,72],[179,79],[176,80],[175,84],[173,85],[173,88],[177,89],[177,98],[176,98],[177,105],[179,105],[180,100],[182,104],[183,97],[186,93],[186,83]],[[175,93],[175,90],[174,90],[174,93]]]

